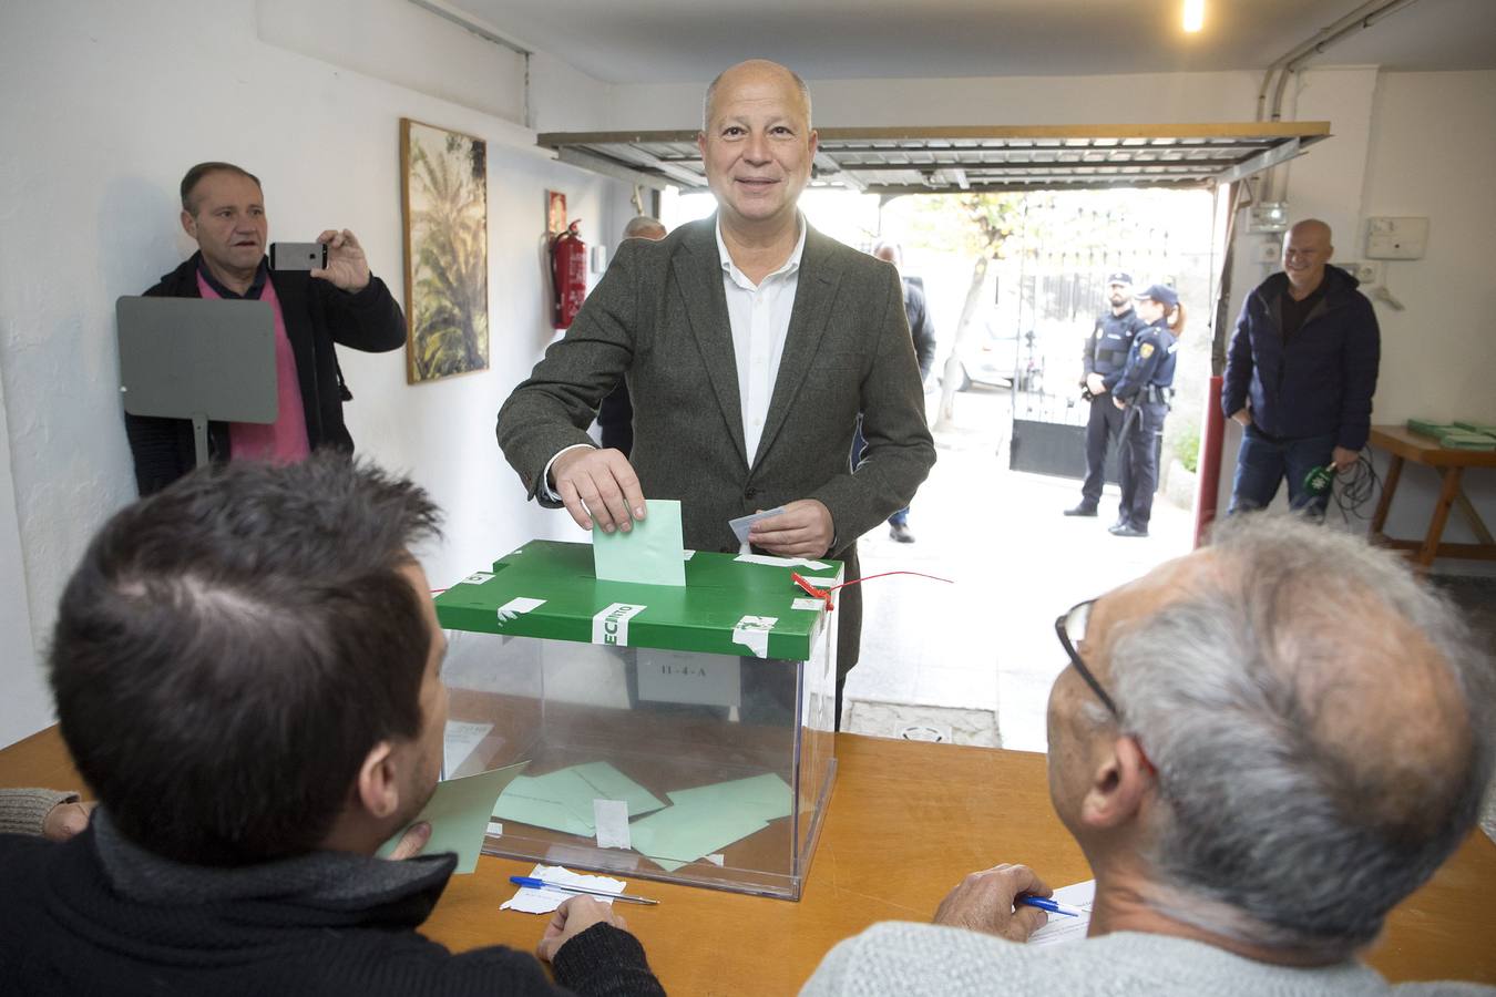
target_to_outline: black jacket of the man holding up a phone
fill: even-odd
[[[147,297],[200,297],[197,262],[193,253]],[[271,284],[286,317],[286,338],[296,357],[301,404],[307,413],[307,444],[353,451],[353,438],[343,423],[343,402],[353,395],[343,383],[334,342],[368,353],[398,350],[405,342],[405,315],[377,277],[358,294],[301,271],[271,271]],[[191,420],[124,416],[124,432],[135,457],[135,481],[141,495],[159,492],[197,463]],[[208,456],[229,459],[229,425],[208,423]]]

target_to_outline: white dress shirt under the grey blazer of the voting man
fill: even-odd
[[[763,436],[763,423],[769,417],[769,399],[773,398],[773,383],[779,378],[779,360],[784,357],[784,341],[790,335],[790,314],[794,311],[794,291],[800,285],[800,257],[805,254],[805,218],[799,218],[800,238],[779,269],[754,284],[733,263],[727,244],[723,242],[723,223],[717,223],[717,253],[723,263],[723,291],[727,296],[727,323],[733,333],[733,359],[738,363],[738,401],[742,407],[744,453],[752,465]],[[585,447],[573,444],[557,451],[546,463],[540,478],[540,490],[551,501],[561,496],[551,489],[551,468],[567,450]],[[648,496],[646,496],[648,498]]]

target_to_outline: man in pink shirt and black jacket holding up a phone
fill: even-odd
[[[275,314],[278,419],[208,423],[209,457],[292,463],[319,447],[352,453],[343,402],[353,395],[334,344],[383,353],[405,342],[405,315],[370,272],[359,241],[347,229],[329,229],[316,244],[271,247],[266,260],[260,181],[232,163],[187,170],[181,202],[181,226],[197,253],[145,294],[265,300]],[[317,244],[322,253],[311,251]],[[124,427],[142,496],[193,469],[191,420],[126,413]]]

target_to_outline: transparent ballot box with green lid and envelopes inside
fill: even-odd
[[[836,773],[835,613],[788,562],[685,558],[684,587],[633,584],[533,541],[437,596],[446,776],[528,762],[492,855],[799,900]],[[818,564],[794,570],[842,580]]]

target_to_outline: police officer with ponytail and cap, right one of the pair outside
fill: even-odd
[[[1132,336],[1132,350],[1112,404],[1122,411],[1122,516],[1113,537],[1147,537],[1158,487],[1158,447],[1164,417],[1174,396],[1174,353],[1185,330],[1185,306],[1173,287],[1153,284],[1135,297],[1137,315],[1147,323]]]

